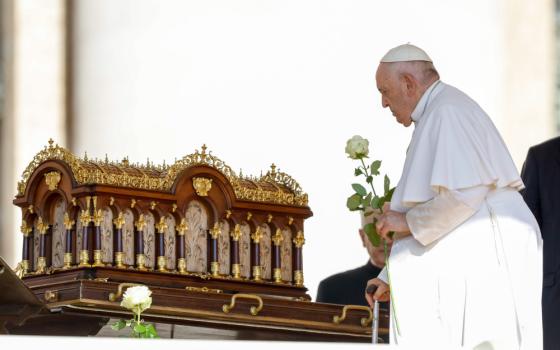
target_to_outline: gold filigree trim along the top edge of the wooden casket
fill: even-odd
[[[107,158],[92,160],[85,155],[82,159],[67,149],[54,145],[52,139],[49,140],[49,146],[37,153],[23,172],[21,181],[18,182],[18,195],[25,193],[33,172],[48,160],[66,163],[79,185],[100,184],[153,191],[171,191],[177,176],[185,169],[205,165],[216,169],[228,179],[239,200],[295,206],[308,204],[307,194],[303,193],[300,185],[286,173],[277,171],[274,164],[270,171],[259,178],[238,176],[222,160],[212,155],[212,152],[206,153],[206,145],[202,146],[201,152],[196,150],[169,166],[165,163],[154,165],[149,161],[145,165],[132,164],[128,158],[110,162]]]

